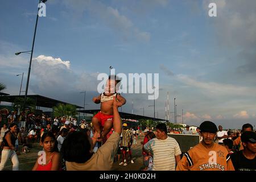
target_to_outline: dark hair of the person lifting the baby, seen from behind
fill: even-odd
[[[68,162],[85,163],[93,153],[90,152],[90,140],[86,132],[74,131],[65,138],[61,153],[63,159]]]

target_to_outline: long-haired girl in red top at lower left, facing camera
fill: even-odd
[[[40,144],[43,146],[43,154],[38,156],[32,171],[59,171],[60,154],[55,135],[51,132],[43,134]]]

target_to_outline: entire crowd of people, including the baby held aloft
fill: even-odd
[[[19,169],[18,148],[23,144],[26,152],[29,143],[39,142],[43,151],[32,170],[110,170],[115,156],[122,156],[121,166],[134,164],[131,146],[137,146],[142,135],[139,128],[129,129],[122,124],[118,107],[126,103],[116,93],[117,80],[109,80],[108,88],[98,97],[101,111],[94,115],[92,123],[75,118],[54,119],[46,115],[11,112],[7,123],[3,123],[0,142],[2,156],[0,171],[8,159],[13,170]],[[200,143],[186,152],[181,152],[176,139],[167,133],[193,134],[186,126],[167,129],[159,123],[154,131],[144,130],[142,144],[143,170],[148,171],[234,171],[256,170],[256,134],[249,123],[242,126],[241,133],[225,131],[210,121],[204,121],[196,129]]]

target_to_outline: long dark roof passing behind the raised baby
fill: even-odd
[[[100,111],[100,109],[93,109],[93,110],[77,110],[80,113],[86,113],[86,114],[94,114],[97,113],[98,111]],[[137,114],[131,114],[131,113],[123,113],[123,112],[119,112],[120,117],[121,118],[125,118],[125,119],[135,119],[135,120],[139,120],[139,119],[151,119],[154,120],[154,118],[152,117],[147,117],[147,116],[143,116],[143,115],[137,115]],[[166,119],[160,119],[160,118],[155,118],[155,121],[168,121]]]

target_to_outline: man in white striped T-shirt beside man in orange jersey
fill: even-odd
[[[153,156],[153,171],[175,171],[181,151],[177,141],[167,136],[166,124],[156,126],[156,138],[144,144],[144,149]]]

